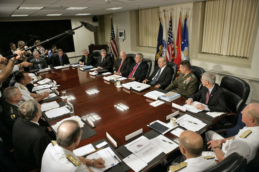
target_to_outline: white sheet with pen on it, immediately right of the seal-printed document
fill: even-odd
[[[163,141],[165,140],[165,141]],[[149,140],[153,143],[156,147],[161,149],[165,154],[169,153],[170,151],[176,149],[178,144],[174,141],[170,140],[169,138],[163,136],[162,134],[158,135],[155,138]],[[166,142],[167,141],[167,142]]]

